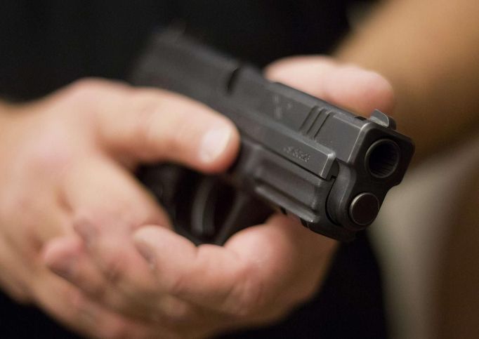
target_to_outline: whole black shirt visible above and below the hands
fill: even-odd
[[[11,0],[0,3],[0,98],[31,100],[79,79],[127,79],[148,35],[183,27],[260,67],[327,53],[348,32],[347,0]],[[0,293],[1,338],[68,338]],[[341,246],[310,303],[279,324],[228,338],[384,338],[379,267],[367,237]]]

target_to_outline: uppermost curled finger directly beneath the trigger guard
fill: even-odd
[[[329,242],[334,244],[281,220],[239,232],[225,247],[195,247],[187,239],[157,227],[142,227],[134,237],[138,251],[155,267],[159,288],[197,305],[244,316],[262,310],[277,297],[275,292],[286,289],[280,286],[294,280],[300,269],[310,269],[296,267],[297,262],[304,262],[298,256],[306,251],[301,250],[305,244],[321,248],[326,243],[321,250],[326,253],[332,248]],[[302,240],[320,238],[305,243],[298,240],[298,231]]]

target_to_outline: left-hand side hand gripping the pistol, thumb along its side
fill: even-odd
[[[129,170],[138,161],[168,160],[221,171],[238,141],[230,121],[197,102],[111,81],[86,79],[38,102],[1,105],[1,288],[86,335],[145,333],[140,322],[107,310],[48,270],[44,245],[76,237],[73,226],[84,220],[114,224],[119,234],[168,225]]]

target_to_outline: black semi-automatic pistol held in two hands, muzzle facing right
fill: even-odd
[[[132,80],[204,102],[240,131],[240,154],[227,173],[173,164],[138,171],[176,232],[195,244],[223,244],[275,210],[350,241],[374,221],[414,152],[378,110],[358,117],[176,32],[153,36]]]

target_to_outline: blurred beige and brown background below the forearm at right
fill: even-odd
[[[477,338],[479,135],[391,190],[372,225],[393,338]]]

